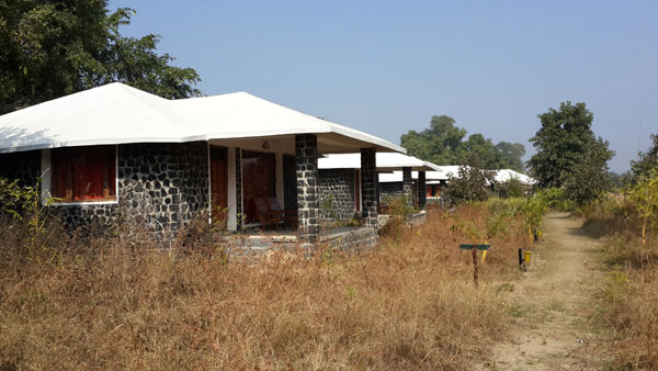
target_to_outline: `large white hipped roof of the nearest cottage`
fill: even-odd
[[[125,143],[178,143],[318,134],[322,146],[353,151],[406,149],[246,92],[163,99],[114,82],[0,116],[0,153]],[[320,146],[320,144],[318,144]]]

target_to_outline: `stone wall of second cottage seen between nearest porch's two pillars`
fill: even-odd
[[[354,194],[353,169],[326,169],[319,170],[318,192],[320,198],[320,217],[322,221],[345,221],[356,212]],[[325,210],[330,198],[333,207]]]

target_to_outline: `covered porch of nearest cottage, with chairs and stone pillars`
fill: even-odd
[[[339,133],[211,139],[207,145],[213,217],[225,218],[235,232],[230,238],[241,236],[241,245],[316,245],[337,233],[376,231],[376,153],[392,148]],[[359,225],[322,228],[318,157],[329,153],[360,158]]]

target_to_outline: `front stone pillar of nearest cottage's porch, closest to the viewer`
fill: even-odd
[[[297,173],[297,218],[303,245],[318,241],[320,234],[318,201],[318,137],[295,135],[295,167]]]

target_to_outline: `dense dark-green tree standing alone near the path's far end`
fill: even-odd
[[[593,114],[585,103],[563,102],[559,111],[548,109],[538,115],[542,127],[530,139],[537,153],[527,162],[542,187],[591,183],[582,192],[595,193],[605,188],[608,160],[613,151],[608,142],[594,136]],[[605,179],[604,181],[600,181]],[[594,184],[595,183],[595,184]],[[582,194],[577,201],[587,199]]]

